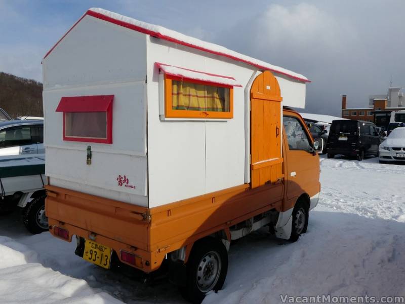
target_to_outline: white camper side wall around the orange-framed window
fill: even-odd
[[[248,83],[255,68],[153,37],[149,39],[149,207],[244,184],[245,88],[233,89],[233,119],[161,121],[159,75],[154,63],[230,76],[242,86]]]

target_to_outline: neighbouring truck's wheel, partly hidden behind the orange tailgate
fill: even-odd
[[[48,217],[45,215],[45,195],[33,199],[25,208],[24,225],[32,234],[48,231]]]

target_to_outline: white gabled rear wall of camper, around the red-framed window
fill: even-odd
[[[86,16],[44,59],[43,73],[51,185],[147,206],[146,35]],[[63,140],[61,97],[111,94],[112,144]],[[136,188],[119,186],[118,175]]]

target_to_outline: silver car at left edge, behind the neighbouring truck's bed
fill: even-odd
[[[45,154],[43,121],[0,122],[0,157]]]

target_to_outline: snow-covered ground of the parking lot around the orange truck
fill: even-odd
[[[289,296],[405,296],[405,166],[321,157],[322,192],[307,233],[290,244],[260,231],[231,246],[224,289],[205,303],[280,303]],[[74,255],[75,244],[0,219],[0,303],[178,303]]]

